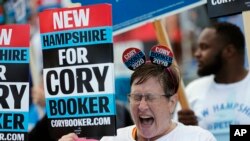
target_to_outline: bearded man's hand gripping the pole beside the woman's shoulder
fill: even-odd
[[[197,117],[194,111],[190,109],[182,109],[178,111],[178,121],[185,125],[198,125]]]

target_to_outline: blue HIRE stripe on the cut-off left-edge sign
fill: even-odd
[[[29,63],[29,48],[8,47],[0,48],[0,63]]]

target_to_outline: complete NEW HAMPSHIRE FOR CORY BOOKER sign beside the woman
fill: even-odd
[[[39,18],[53,135],[116,135],[111,5],[47,10]]]

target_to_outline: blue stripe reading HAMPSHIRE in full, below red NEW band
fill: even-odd
[[[43,49],[112,43],[112,27],[86,28],[41,34]]]

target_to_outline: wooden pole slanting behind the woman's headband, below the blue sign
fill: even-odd
[[[155,30],[156,30],[156,36],[157,36],[157,40],[159,42],[159,44],[161,45],[165,45],[167,47],[169,47],[171,50],[171,44],[169,41],[169,38],[167,36],[167,32],[166,32],[166,28],[164,28],[161,20],[155,20],[153,22]],[[174,65],[178,66],[178,64],[176,63],[176,61],[174,60]],[[189,104],[185,95],[185,91],[184,91],[184,83],[183,80],[181,79],[180,84],[179,84],[179,88],[177,91],[178,97],[179,97],[179,102],[181,104],[181,108],[182,109],[189,109]]]

